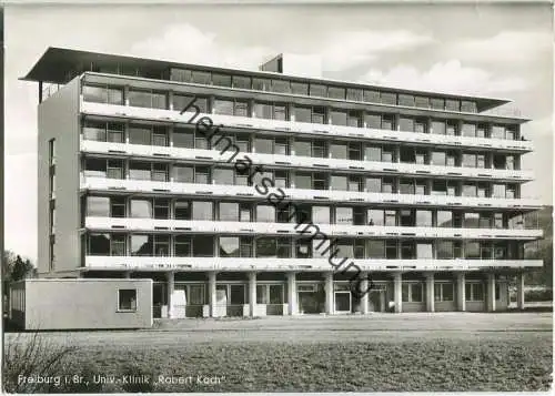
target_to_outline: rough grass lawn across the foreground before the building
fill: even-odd
[[[474,323],[473,316],[462,319],[461,316],[452,316],[452,321],[448,316],[428,317],[432,329],[411,332],[395,329],[408,325],[406,317],[386,316],[372,322],[366,318],[275,322],[279,326],[273,332],[263,329],[264,324],[270,324],[261,319],[230,325],[191,322],[191,326],[200,328],[190,331],[72,333],[69,338],[63,333],[50,335],[59,341],[65,336],[79,346],[78,352],[69,356],[68,373],[61,374],[83,372],[90,384],[94,374],[118,378],[142,374],[151,382],[68,389],[74,392],[524,392],[549,388],[552,332],[546,326],[551,315],[543,316],[541,322],[518,315],[503,316],[502,323],[512,323],[512,326],[504,325],[505,329],[500,322],[491,322],[494,316],[476,316]],[[455,327],[462,326],[457,321],[466,323],[466,327],[456,331]],[[414,323],[424,326],[426,319],[417,318]],[[442,323],[448,328],[442,329]],[[366,324],[375,328],[365,329]],[[218,328],[211,332],[205,327]],[[292,329],[287,331],[289,327]],[[307,329],[309,336],[289,337],[289,332],[299,332],[301,327]],[[181,377],[182,384],[158,383],[161,375],[173,376],[175,380]]]

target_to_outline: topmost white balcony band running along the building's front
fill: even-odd
[[[193,112],[180,114],[179,111],[148,108],[134,108],[117,104],[85,102],[81,100],[81,112],[91,115],[124,118],[131,120],[151,120],[163,122],[186,123],[194,116]],[[533,151],[532,142],[504,139],[448,136],[430,133],[386,131],[367,128],[342,126],[332,124],[313,124],[307,122],[266,120],[248,116],[199,114],[210,116],[214,125],[223,124],[240,130],[265,130],[290,134],[309,134],[317,136],[336,136],[369,139],[382,142],[405,142],[423,145],[438,145],[446,148],[474,148],[481,150],[505,150],[513,152]]]

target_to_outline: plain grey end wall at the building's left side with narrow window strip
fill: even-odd
[[[38,270],[71,271],[80,266],[79,209],[79,92],[80,80],[39,104],[38,134]],[[54,140],[56,232],[50,267],[50,148]]]

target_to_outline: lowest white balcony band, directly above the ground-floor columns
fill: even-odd
[[[361,271],[477,271],[541,267],[542,260],[353,260]],[[326,258],[85,256],[87,270],[103,271],[330,271]],[[339,270],[341,271],[341,270]],[[353,275],[356,268],[351,267]]]

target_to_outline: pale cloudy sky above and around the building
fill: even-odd
[[[6,248],[37,260],[37,83],[48,47],[256,70],[317,55],[322,77],[511,99],[533,121],[523,196],[553,201],[553,22],[546,3],[16,6],[4,9]]]

